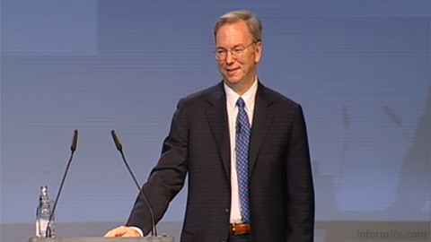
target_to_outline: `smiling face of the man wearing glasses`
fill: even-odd
[[[243,21],[222,26],[216,33],[216,48],[227,49],[227,55],[217,60],[218,69],[229,86],[251,84],[257,73],[261,56],[261,42],[253,39]],[[251,46],[249,46],[251,44]],[[234,58],[230,50],[244,48],[242,56]]]

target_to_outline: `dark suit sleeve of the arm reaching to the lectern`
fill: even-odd
[[[172,118],[171,131],[163,142],[162,156],[142,186],[154,211],[156,223],[162,219],[169,203],[184,186],[188,171],[188,134],[186,112],[180,100]],[[151,231],[151,215],[139,195],[126,225],[142,229],[145,235]]]

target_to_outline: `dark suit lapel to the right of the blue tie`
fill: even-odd
[[[256,93],[254,106],[253,123],[251,125],[251,141],[249,153],[249,177],[256,165],[256,160],[260,151],[260,147],[268,133],[268,128],[271,125],[274,117],[274,112],[269,108],[272,100],[269,99],[266,88],[260,84]]]

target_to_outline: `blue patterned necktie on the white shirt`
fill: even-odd
[[[244,100],[239,98],[236,105],[238,106],[238,116],[236,117],[236,172],[238,174],[241,215],[243,222],[250,222],[249,144],[251,128],[249,117],[244,109]]]

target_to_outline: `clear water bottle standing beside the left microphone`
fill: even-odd
[[[48,186],[40,186],[39,205],[36,210],[36,237],[54,238],[54,218],[49,223],[51,205],[48,197]]]

